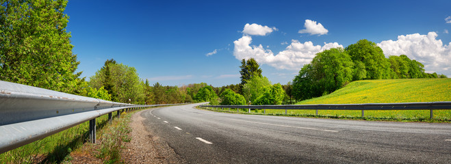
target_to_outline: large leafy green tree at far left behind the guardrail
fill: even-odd
[[[0,80],[75,94],[81,72],[66,32],[67,1],[1,0]]]

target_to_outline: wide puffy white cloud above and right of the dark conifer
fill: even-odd
[[[308,64],[316,53],[335,47],[342,47],[337,42],[325,43],[324,46],[313,45],[312,42],[301,43],[298,40],[292,40],[284,51],[274,55],[270,49],[264,49],[261,44],[258,46],[250,45],[252,38],[243,36],[233,42],[235,49],[233,55],[237,59],[250,59],[253,57],[260,64],[268,64],[277,69],[300,70],[304,64]]]

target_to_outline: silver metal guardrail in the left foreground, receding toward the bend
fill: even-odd
[[[95,118],[120,110],[166,105],[131,105],[65,94],[0,81],[0,154],[90,120],[95,143]]]

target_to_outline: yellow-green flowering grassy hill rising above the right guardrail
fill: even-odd
[[[340,90],[298,102],[307,104],[357,104],[451,101],[451,79],[391,79],[355,81]]]

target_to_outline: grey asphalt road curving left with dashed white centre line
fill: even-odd
[[[451,124],[240,115],[181,105],[142,113],[187,163],[451,163]]]

